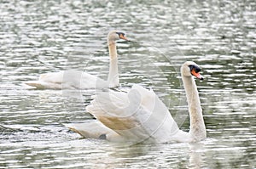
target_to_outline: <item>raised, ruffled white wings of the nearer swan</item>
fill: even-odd
[[[166,142],[178,127],[165,104],[152,91],[134,85],[128,93],[99,93],[86,109],[125,139]]]

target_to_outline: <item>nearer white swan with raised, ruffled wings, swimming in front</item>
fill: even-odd
[[[102,92],[86,107],[96,120],[67,125],[84,138],[104,138],[115,142],[198,142],[207,137],[201,102],[193,76],[203,80],[200,67],[187,61],[181,67],[189,104],[190,130],[177,127],[166,105],[152,91],[133,85],[128,93]]]

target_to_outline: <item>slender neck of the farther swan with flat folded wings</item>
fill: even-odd
[[[108,40],[108,52],[110,57],[108,84],[109,84],[109,87],[118,87],[119,86],[118,58],[117,58],[116,44],[114,41]]]

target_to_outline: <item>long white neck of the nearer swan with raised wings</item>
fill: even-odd
[[[203,120],[201,102],[192,76],[182,76],[183,84],[189,104],[190,130],[189,134],[192,141],[200,141],[207,137],[206,127]]]

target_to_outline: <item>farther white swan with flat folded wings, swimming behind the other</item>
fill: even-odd
[[[38,89],[88,89],[103,87],[118,87],[118,58],[116,52],[116,41],[124,39],[125,33],[110,31],[108,33],[108,50],[110,56],[108,82],[97,76],[90,75],[80,70],[63,70],[60,72],[46,73],[39,77],[38,81],[25,82],[26,85]]]

